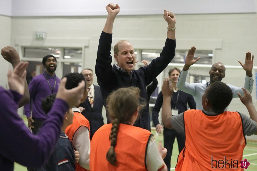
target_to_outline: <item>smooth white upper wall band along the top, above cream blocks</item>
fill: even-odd
[[[12,16],[106,15],[105,6],[110,2],[120,5],[120,15],[162,14],[166,8],[176,14],[256,12],[255,0],[12,0]]]

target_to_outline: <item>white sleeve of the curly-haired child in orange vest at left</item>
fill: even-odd
[[[79,165],[89,170],[90,139],[89,131],[85,126],[81,126],[73,136],[72,145],[79,151]]]

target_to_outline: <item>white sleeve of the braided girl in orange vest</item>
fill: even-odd
[[[163,168],[164,161],[159,154],[156,139],[151,135],[146,153],[146,167],[148,171],[156,171]]]

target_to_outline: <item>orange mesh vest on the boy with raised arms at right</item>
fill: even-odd
[[[239,113],[225,111],[210,116],[188,110],[184,112],[184,125],[185,147],[176,171],[243,170],[240,161],[246,139]]]

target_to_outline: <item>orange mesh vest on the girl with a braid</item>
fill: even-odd
[[[146,170],[146,150],[151,132],[136,126],[120,124],[117,145],[114,148],[117,166],[111,165],[106,154],[111,146],[109,136],[112,124],[99,128],[91,142],[90,171]]]

